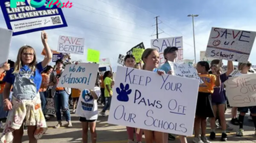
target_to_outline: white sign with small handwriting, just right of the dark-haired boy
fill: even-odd
[[[201,78],[198,76],[197,69],[193,66],[193,64],[180,64],[168,61],[170,67],[172,67],[172,75],[178,77],[184,77],[189,79],[199,80],[199,84],[204,83]]]

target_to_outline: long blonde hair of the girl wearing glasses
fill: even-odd
[[[36,67],[36,54],[35,54],[35,50],[33,49],[33,47],[29,46],[29,45],[24,45],[22,47],[20,47],[20,49],[18,50],[18,55],[17,55],[17,60],[14,64],[14,71],[13,73],[18,73],[20,68],[22,67],[22,54],[24,52],[27,52],[27,51],[30,51],[32,50],[33,51],[33,54],[34,54],[34,59],[33,61],[29,64],[29,68],[31,69],[31,71],[35,71],[35,67]]]

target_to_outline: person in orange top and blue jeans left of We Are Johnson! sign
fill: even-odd
[[[57,60],[56,61],[56,70],[54,70],[50,76],[50,86],[52,87],[52,95],[54,100],[55,112],[57,117],[57,125],[55,128],[59,128],[62,126],[61,123],[61,110],[66,117],[66,121],[68,122],[68,127],[72,127],[71,123],[71,115],[69,109],[69,94],[71,94],[71,88],[63,88],[57,87],[59,78],[63,73],[64,69],[62,68],[63,61]]]

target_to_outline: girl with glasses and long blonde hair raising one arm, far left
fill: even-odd
[[[41,72],[52,60],[52,52],[47,43],[48,36],[42,31],[42,44],[45,47],[46,57],[37,63],[33,47],[20,47],[14,68],[11,68],[4,78],[4,107],[9,110],[5,129],[1,141],[5,143],[22,142],[23,124],[26,121],[30,143],[36,143],[47,130],[44,113],[41,109],[39,88]],[[12,87],[12,99],[9,100]]]

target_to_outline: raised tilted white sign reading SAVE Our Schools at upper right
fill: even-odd
[[[247,63],[256,32],[211,28],[205,56]]]

